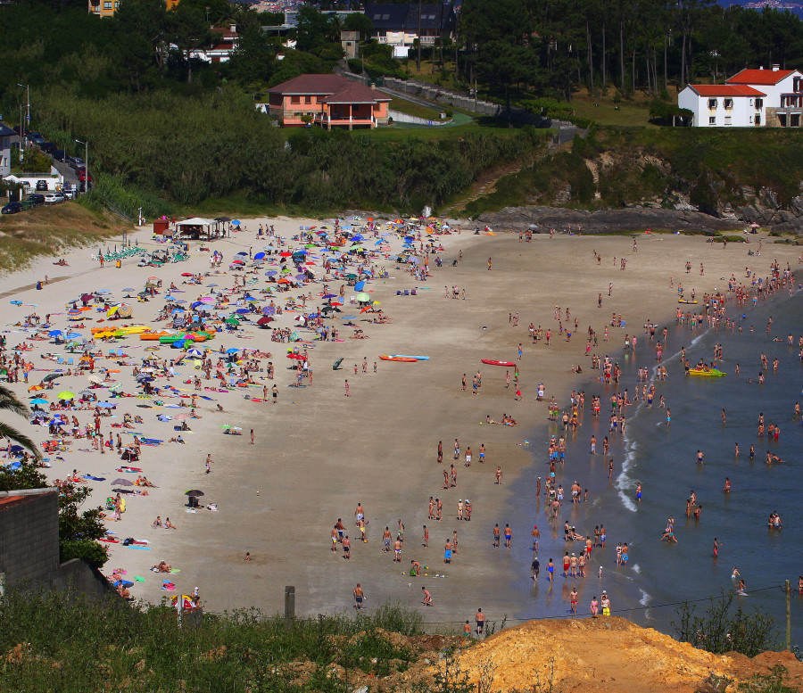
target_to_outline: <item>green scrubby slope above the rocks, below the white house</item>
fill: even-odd
[[[549,205],[568,191],[562,206],[619,209],[649,201],[671,207],[684,197],[710,212],[749,204],[745,188],[753,194],[771,189],[783,207],[799,194],[801,156],[803,142],[783,129],[595,127],[575,138],[570,151],[561,148],[502,178],[467,211],[476,216],[506,206]]]

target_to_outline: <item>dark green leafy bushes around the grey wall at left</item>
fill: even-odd
[[[45,474],[36,466],[22,464],[19,469],[0,467],[0,491],[44,489],[50,486]],[[62,563],[72,558],[85,558],[99,568],[107,560],[106,549],[96,540],[106,533],[102,508],[79,512],[92,489],[77,483],[63,483],[59,491],[59,549]]]

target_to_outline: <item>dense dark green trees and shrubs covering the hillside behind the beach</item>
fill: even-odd
[[[336,6],[357,5],[303,6],[289,49],[262,29],[281,15],[228,0],[181,0],[172,11],[162,0],[120,0],[103,20],[83,0],[4,4],[0,113],[16,124],[27,99],[20,85],[29,87],[32,129],[70,153],[79,153],[75,139],[90,142],[90,198],[129,213],[144,206],[148,215],[228,195],[310,210],[419,210],[543,146],[542,135],[524,129],[394,141],[276,128],[253,104],[270,86],[342,62],[341,29],[362,38],[352,70],[405,77],[415,66],[370,40],[366,16],[327,14]],[[238,31],[231,60],[190,59],[211,45],[212,28],[231,24]],[[465,0],[455,35],[436,39],[425,58],[436,80],[476,86],[501,103],[559,110],[578,93],[672,103],[688,81],[721,81],[760,64],[803,65],[803,24],[789,12],[702,0]]]

